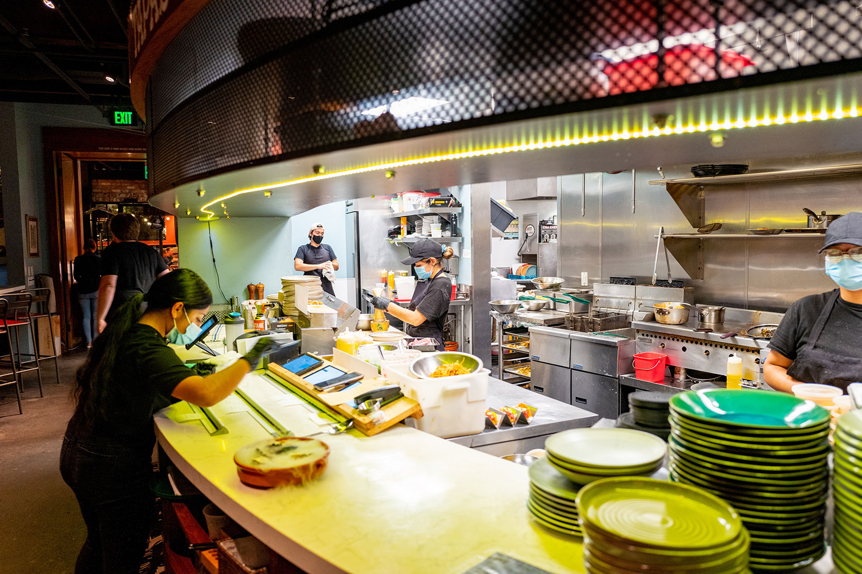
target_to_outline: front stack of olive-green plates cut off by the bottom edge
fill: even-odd
[[[728,503],[653,478],[605,478],[578,494],[588,574],[740,574],[749,535]]]

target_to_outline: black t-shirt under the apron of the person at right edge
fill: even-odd
[[[809,342],[811,330],[832,293],[809,295],[794,302],[772,336],[770,349],[775,349],[790,360],[796,360],[796,355]],[[815,349],[823,349],[834,355],[859,357],[862,361],[862,305],[848,303],[839,297],[815,343]]]

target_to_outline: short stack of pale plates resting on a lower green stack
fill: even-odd
[[[650,475],[661,467],[667,445],[633,429],[571,429],[545,441],[547,460],[578,485],[619,476]]]

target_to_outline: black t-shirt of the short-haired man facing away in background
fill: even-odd
[[[134,295],[147,293],[159,273],[166,268],[165,260],[156,250],[140,241],[110,244],[102,252],[102,275],[116,275],[111,311]]]

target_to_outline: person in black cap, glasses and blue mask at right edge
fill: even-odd
[[[799,299],[778,325],[763,368],[778,391],[862,381],[862,213],[835,219],[820,252],[838,288]]]

